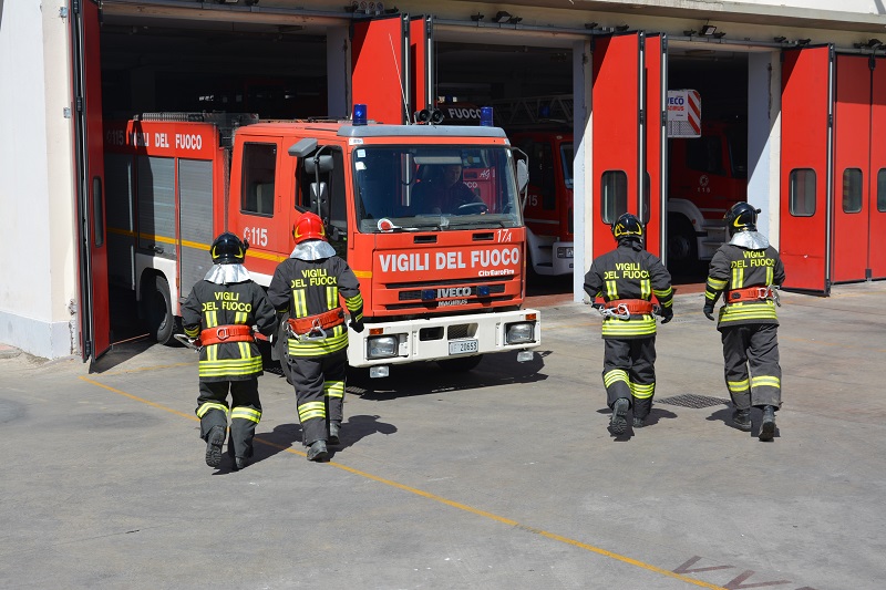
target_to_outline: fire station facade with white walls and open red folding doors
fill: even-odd
[[[228,96],[270,96],[292,71],[311,75],[280,100],[301,92],[292,104],[311,111],[285,111],[291,117],[347,117],[360,102],[371,118],[405,123],[426,106],[410,104],[416,87],[477,101],[569,94],[576,300],[583,269],[611,246],[601,211],[640,214],[649,249],[666,250],[668,90],[678,77],[680,87],[715,80],[702,92],[704,107],[742,111],[746,199],[781,250],[785,287],[827,294],[833,283],[886,278],[882,2],[388,4],[0,2],[0,217],[11,246],[0,257],[0,342],[83,360],[112,343],[105,117],[192,110],[185,87],[218,110]],[[200,48],[176,49],[197,38]],[[218,90],[233,76],[231,55],[249,54],[250,43],[261,43],[264,56],[240,68],[279,60],[277,70],[246,90]],[[157,65],[164,51],[190,70]],[[740,62],[741,75],[723,74],[727,62]],[[216,85],[200,91],[202,83]]]

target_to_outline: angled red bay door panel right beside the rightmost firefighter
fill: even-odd
[[[834,50],[792,49],[782,61],[780,253],[784,287],[831,291]]]

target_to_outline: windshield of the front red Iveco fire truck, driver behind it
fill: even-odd
[[[514,162],[504,146],[360,147],[353,178],[363,234],[523,224]]]

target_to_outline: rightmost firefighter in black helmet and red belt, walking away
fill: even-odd
[[[751,406],[760,407],[759,437],[772,441],[775,412],[782,404],[774,289],[784,282],[784,266],[777,250],[756,230],[759,213],[746,203],[736,203],[727,211],[730,239],[711,259],[703,312],[713,321],[714,304],[723,294],[717,329],[734,404],[732,422],[740,431],[750,432]]]

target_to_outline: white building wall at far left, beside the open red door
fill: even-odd
[[[62,4],[0,2],[0,342],[71,354],[76,300],[66,19]]]

